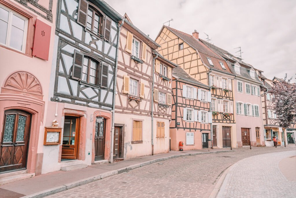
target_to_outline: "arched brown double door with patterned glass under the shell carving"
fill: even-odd
[[[0,173],[26,168],[31,114],[22,110],[4,111],[0,144]]]

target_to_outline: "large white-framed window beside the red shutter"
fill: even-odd
[[[25,52],[28,19],[0,5],[0,43]]]

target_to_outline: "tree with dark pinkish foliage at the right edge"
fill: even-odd
[[[292,78],[287,80],[287,74],[284,79],[276,82],[271,90],[274,97],[272,103],[274,113],[280,127],[290,128],[291,121],[296,122],[296,83],[291,83]]]

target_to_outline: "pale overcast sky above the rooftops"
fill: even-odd
[[[270,79],[296,73],[295,0],[106,0],[121,15],[155,40],[163,23],[188,34],[207,33],[230,53],[242,47],[242,58]],[[168,24],[166,24],[168,25]]]

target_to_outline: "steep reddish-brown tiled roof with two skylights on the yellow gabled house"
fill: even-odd
[[[206,46],[204,43],[202,43],[200,40],[197,40],[192,35],[189,35],[187,33],[181,32],[179,30],[176,30],[174,28],[164,26],[168,28],[170,31],[172,31],[174,34],[176,34],[179,38],[184,40],[186,43],[188,43],[190,46],[192,46],[194,49],[198,51],[200,54],[200,58],[202,59],[203,63],[208,66],[209,68],[213,68],[215,70],[226,72],[229,74],[232,74],[226,61],[219,56],[217,53],[215,53],[213,50],[211,50],[208,46]],[[213,62],[214,66],[210,66],[209,61],[207,60],[207,57],[210,58]],[[222,69],[219,62],[222,62],[225,66],[225,69]]]

